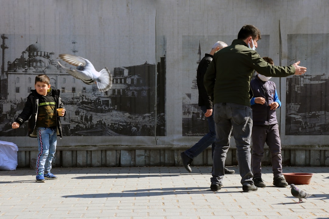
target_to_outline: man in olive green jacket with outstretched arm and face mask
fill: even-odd
[[[241,176],[242,190],[255,191],[252,180],[250,136],[252,128],[252,110],[250,107],[250,80],[254,71],[271,77],[302,75],[305,67],[298,66],[299,61],[291,66],[275,66],[266,62],[255,51],[261,33],[253,25],[241,28],[238,39],[232,45],[214,54],[204,76],[204,85],[214,104],[216,140],[213,157],[211,190],[221,189],[224,177],[224,163],[230,146],[233,130],[237,147],[237,156]],[[252,45],[252,47],[251,47]]]

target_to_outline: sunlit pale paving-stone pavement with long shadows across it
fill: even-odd
[[[35,171],[0,171],[0,218],[329,218],[329,168],[284,167],[314,173],[313,194],[304,203],[290,186],[273,186],[271,167],[262,168],[266,188],[242,192],[238,167],[221,190],[210,190],[211,167],[53,168],[57,180],[35,182]]]

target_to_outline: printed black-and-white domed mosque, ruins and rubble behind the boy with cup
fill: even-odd
[[[66,136],[165,135],[164,104],[159,103],[164,100],[157,101],[156,98],[156,89],[162,95],[165,93],[164,57],[161,57],[163,63],[158,63],[160,69],[157,70],[157,86],[156,65],[145,62],[141,65],[115,67],[112,89],[99,92],[96,85],[85,84],[63,71],[57,63],[57,55],[45,51],[38,40],[26,47],[20,57],[6,60],[6,53],[10,51],[6,46],[8,36],[2,34],[1,38],[2,136],[26,135],[27,122],[15,130],[11,129],[10,124],[22,111],[31,89],[35,89],[35,77],[39,74],[46,74],[50,78],[51,87],[61,91],[67,111],[66,117],[62,119]],[[73,53],[78,52],[76,43],[72,41]],[[160,105],[156,115],[155,108]]]

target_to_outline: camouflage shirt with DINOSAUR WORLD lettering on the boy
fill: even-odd
[[[49,92],[46,96],[38,95],[39,106],[36,127],[56,126],[56,102]]]

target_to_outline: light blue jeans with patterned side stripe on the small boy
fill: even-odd
[[[57,128],[39,127],[38,135],[38,157],[37,157],[37,175],[39,173],[50,172],[51,162],[55,156],[57,144]]]

